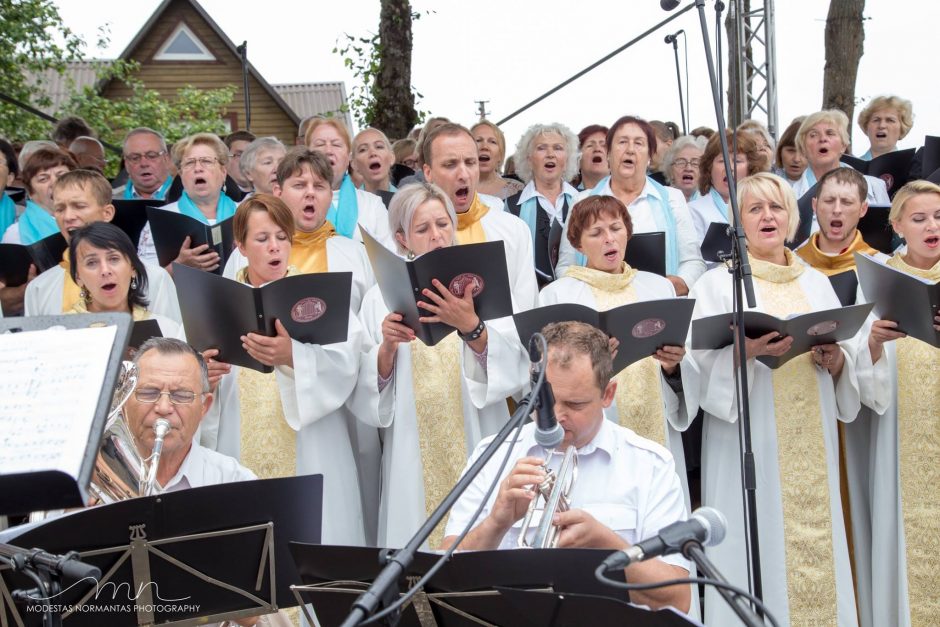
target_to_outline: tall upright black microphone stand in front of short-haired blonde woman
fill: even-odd
[[[745,539],[748,545],[748,567],[750,570],[750,591],[757,598],[763,600],[763,586],[760,570],[760,549],[757,532],[757,495],[754,450],[751,442],[751,413],[750,399],[748,398],[747,384],[747,336],[744,332],[744,305],[742,301],[742,287],[747,298],[747,306],[755,307],[754,282],[751,276],[751,265],[748,262],[747,242],[744,229],[741,226],[741,212],[738,208],[737,185],[735,182],[735,168],[728,153],[728,138],[726,136],[724,113],[721,108],[721,98],[718,92],[718,83],[715,73],[715,63],[712,59],[711,43],[708,37],[708,25],[705,19],[705,0],[695,0],[698,8],[699,24],[702,28],[702,40],[705,44],[705,60],[708,63],[708,78],[711,85],[712,101],[715,105],[715,118],[718,123],[718,138],[721,142],[721,156],[724,159],[725,172],[728,173],[729,207],[731,208],[732,225],[729,227],[731,237],[731,275],[734,294],[734,326],[737,332],[736,344],[738,349],[738,365],[735,366],[736,382],[735,396],[738,409],[738,429],[742,442],[742,483],[744,486],[744,525]]]

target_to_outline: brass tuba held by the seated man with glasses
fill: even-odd
[[[122,362],[89,486],[89,492],[99,503],[150,496],[156,485],[163,439],[170,430],[170,423],[164,418],[154,423],[153,453],[144,459],[122,411],[137,387],[137,378],[137,365]]]

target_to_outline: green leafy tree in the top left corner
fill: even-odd
[[[0,0],[0,91],[34,107],[48,107],[43,73],[61,74],[67,62],[81,58],[83,48],[52,0]],[[0,102],[0,135],[25,141],[47,137],[50,129],[49,122]]]

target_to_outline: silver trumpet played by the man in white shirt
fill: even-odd
[[[571,491],[578,478],[578,451],[574,446],[565,449],[565,456],[557,473],[548,467],[548,462],[554,453],[554,450],[550,451],[542,465],[545,469],[545,480],[534,486],[537,493],[529,503],[529,509],[522,520],[522,529],[517,540],[520,548],[547,549],[558,545],[558,527],[552,523],[552,519],[555,517],[555,512],[566,512],[571,508]],[[542,505],[543,502],[544,505]],[[532,540],[527,540],[526,536],[536,512],[541,514],[538,527],[535,529]]]

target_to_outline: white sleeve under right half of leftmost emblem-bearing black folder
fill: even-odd
[[[350,312],[345,342],[324,346],[291,343],[294,367],[278,366],[274,371],[287,424],[300,431],[342,407],[352,393],[359,371],[362,327]]]

